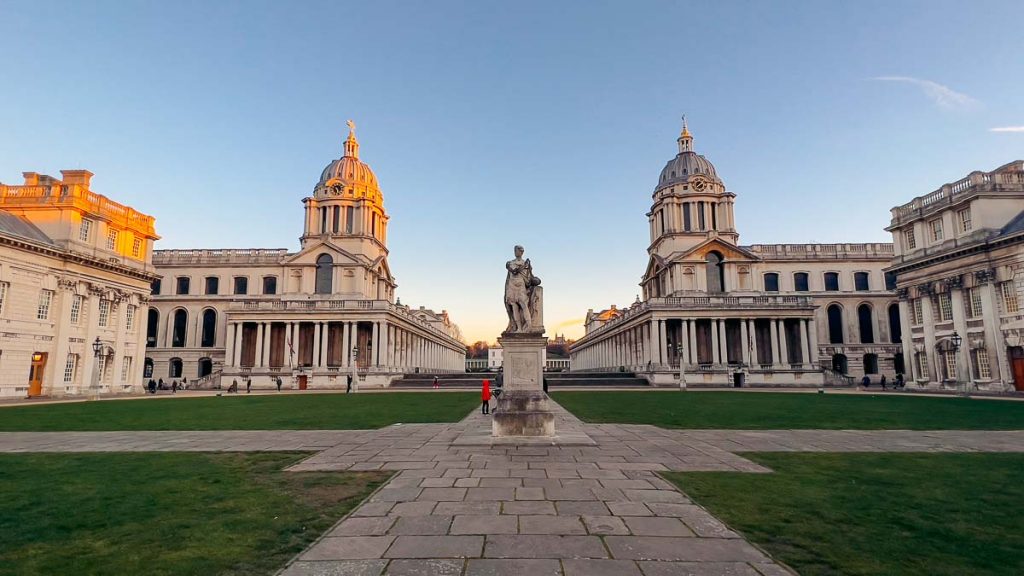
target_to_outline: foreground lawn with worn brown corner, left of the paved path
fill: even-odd
[[[0,575],[272,574],[387,475],[265,454],[2,454]]]

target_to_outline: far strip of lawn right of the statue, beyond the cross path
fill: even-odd
[[[1024,429],[1024,403],[741,392],[559,392],[587,422],[732,429]]]

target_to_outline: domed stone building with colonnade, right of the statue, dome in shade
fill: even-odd
[[[741,246],[729,192],[683,124],[647,213],[640,297],[587,314],[573,370],[653,384],[818,385],[902,371],[891,244]]]

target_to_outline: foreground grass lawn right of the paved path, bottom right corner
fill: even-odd
[[[1024,574],[1024,454],[746,456],[664,476],[804,576]]]

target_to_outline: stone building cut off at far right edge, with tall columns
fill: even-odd
[[[1024,390],[1024,161],[897,206],[886,230],[908,385]]]

